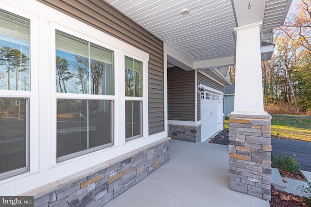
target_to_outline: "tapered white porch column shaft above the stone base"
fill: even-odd
[[[262,22],[234,30],[237,35],[233,114],[265,114],[263,111],[260,27]]]

